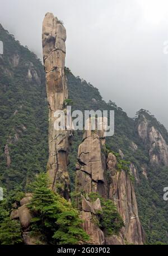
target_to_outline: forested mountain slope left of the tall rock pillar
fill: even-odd
[[[5,184],[9,189],[19,185],[23,189],[46,167],[45,74],[34,53],[16,42],[1,25],[0,39],[4,44],[4,54],[0,57],[0,185]],[[29,79],[28,70],[38,77]],[[6,145],[11,157],[9,168],[4,155]]]

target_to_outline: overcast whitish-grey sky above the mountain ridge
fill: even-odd
[[[39,57],[46,12],[66,26],[74,75],[129,116],[148,109],[168,128],[167,0],[0,0],[0,23]]]

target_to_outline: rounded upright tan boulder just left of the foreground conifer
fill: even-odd
[[[22,205],[18,208],[18,217],[20,219],[23,230],[29,228],[32,215],[26,205]]]

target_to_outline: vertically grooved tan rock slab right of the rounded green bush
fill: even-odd
[[[145,237],[139,221],[134,186],[124,170],[116,172],[112,179],[109,197],[114,200],[118,212],[123,218],[125,227],[122,228],[122,235],[130,244],[141,245]]]

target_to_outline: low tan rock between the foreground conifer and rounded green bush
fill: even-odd
[[[104,233],[100,228],[94,224],[94,221],[92,220],[92,214],[89,212],[81,212],[81,219],[83,219],[82,226],[86,233],[90,236],[89,244],[93,245],[104,245],[105,239],[104,239]]]

